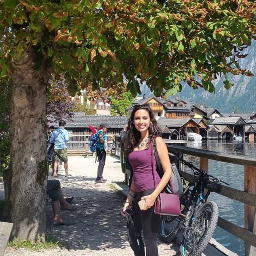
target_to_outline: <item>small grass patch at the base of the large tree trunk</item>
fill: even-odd
[[[44,243],[34,242],[31,240],[20,240],[16,239],[15,241],[10,241],[8,243],[9,247],[13,248],[25,248],[32,251],[39,251],[42,249],[55,249],[58,248],[60,241],[54,237],[48,237]]]

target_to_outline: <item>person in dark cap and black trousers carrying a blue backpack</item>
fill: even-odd
[[[110,128],[107,123],[102,123],[98,126],[98,142],[96,144],[96,154],[99,160],[98,174],[96,178],[96,183],[104,183],[107,180],[103,178],[102,173],[106,162],[106,151],[104,150],[104,142],[107,140],[105,132]]]

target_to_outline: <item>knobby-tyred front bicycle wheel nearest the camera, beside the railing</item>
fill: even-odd
[[[210,242],[219,216],[215,202],[202,204],[195,212],[194,218],[182,240],[182,256],[199,256]]]

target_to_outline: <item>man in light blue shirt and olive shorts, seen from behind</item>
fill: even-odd
[[[56,172],[58,162],[61,159],[64,162],[65,168],[65,177],[71,176],[68,174],[68,152],[67,152],[67,143],[68,143],[68,131],[65,129],[66,122],[60,120],[59,128],[52,132],[51,142],[54,143],[54,165],[53,165],[53,177],[58,177]]]

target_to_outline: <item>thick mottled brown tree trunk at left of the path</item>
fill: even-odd
[[[13,62],[8,216],[9,221],[14,224],[12,239],[17,237],[44,241],[47,182],[46,87],[51,70],[49,60],[36,54],[37,51],[30,47],[21,60]]]

